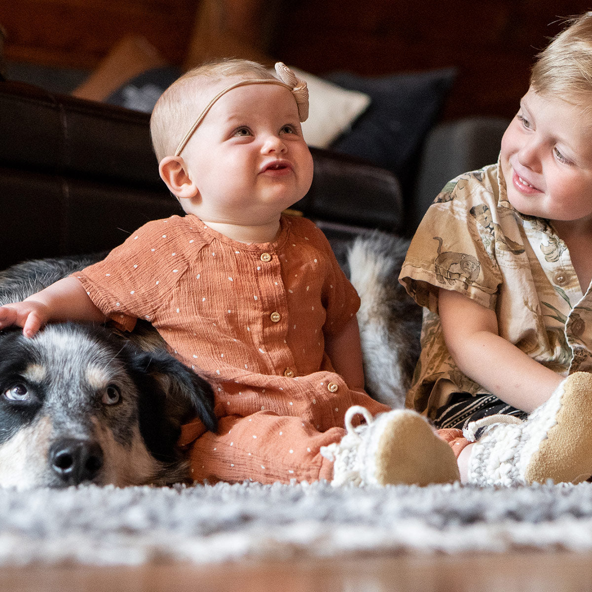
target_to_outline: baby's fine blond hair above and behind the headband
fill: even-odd
[[[240,59],[204,63],[186,72],[163,92],[150,117],[150,136],[159,162],[175,154],[179,141],[205,106],[192,99],[195,91],[224,78],[274,80],[275,76],[259,63]]]

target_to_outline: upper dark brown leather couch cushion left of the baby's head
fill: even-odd
[[[163,190],[148,115],[19,82],[0,104],[0,163]]]

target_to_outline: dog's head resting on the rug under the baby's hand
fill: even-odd
[[[181,424],[198,416],[215,430],[213,406],[210,385],[181,362],[107,330],[0,332],[0,486],[186,481]]]

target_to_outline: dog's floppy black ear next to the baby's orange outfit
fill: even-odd
[[[140,352],[136,363],[165,392],[165,413],[170,422],[181,426],[197,416],[215,432],[214,391],[207,381],[165,351]]]

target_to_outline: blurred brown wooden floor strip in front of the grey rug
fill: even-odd
[[[580,592],[592,590],[592,553],[300,559],[207,567],[4,568],[15,592]]]

